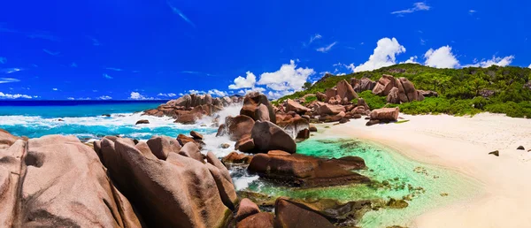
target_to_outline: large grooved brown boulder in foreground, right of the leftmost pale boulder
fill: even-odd
[[[219,227],[229,209],[222,201],[212,167],[169,153],[148,156],[125,139],[102,140],[105,166],[119,189],[152,227]],[[105,147],[105,145],[107,145]],[[105,149],[104,149],[105,148]],[[145,149],[145,148],[144,148]]]

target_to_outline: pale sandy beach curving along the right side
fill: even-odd
[[[482,183],[479,196],[427,211],[412,227],[531,227],[531,119],[488,113],[401,118],[410,121],[369,127],[352,119],[325,133],[375,141]],[[488,155],[493,150],[500,156]]]

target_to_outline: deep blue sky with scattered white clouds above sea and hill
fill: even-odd
[[[278,97],[401,62],[531,66],[529,1],[4,1],[0,99]]]

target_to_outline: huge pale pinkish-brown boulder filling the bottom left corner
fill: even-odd
[[[2,227],[141,226],[96,153],[73,136],[0,149],[0,205]]]

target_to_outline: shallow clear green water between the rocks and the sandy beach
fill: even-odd
[[[317,138],[297,144],[297,153],[323,158],[360,156],[368,167],[358,171],[371,178],[371,185],[351,185],[297,189],[275,186],[261,180],[250,183],[248,190],[273,196],[315,200],[320,198],[338,201],[389,201],[405,199],[405,209],[372,210],[358,222],[361,227],[387,227],[408,225],[412,218],[427,209],[466,199],[479,189],[471,179],[441,167],[418,163],[397,152],[366,141],[338,138]]]

